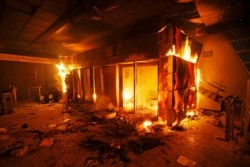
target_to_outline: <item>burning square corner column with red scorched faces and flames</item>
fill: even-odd
[[[172,126],[196,109],[196,62],[202,45],[168,25],[158,34],[158,116]]]

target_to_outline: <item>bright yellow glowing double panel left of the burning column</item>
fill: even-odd
[[[126,111],[157,114],[158,62],[134,62],[120,66],[121,103]]]

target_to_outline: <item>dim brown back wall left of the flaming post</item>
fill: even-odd
[[[42,86],[42,93],[59,87],[55,65],[0,61],[0,90],[7,90],[9,84],[17,88],[18,99],[28,97],[28,88]]]

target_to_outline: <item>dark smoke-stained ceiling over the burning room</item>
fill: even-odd
[[[1,0],[0,53],[57,58],[157,32],[168,22],[193,36],[243,27],[246,34],[234,38],[245,39],[249,6],[248,0]]]

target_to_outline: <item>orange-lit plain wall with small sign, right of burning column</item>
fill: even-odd
[[[203,43],[198,60],[201,78],[222,82],[225,87],[225,92],[220,92],[222,96],[237,95],[244,100],[249,76],[229,41],[222,34],[206,35],[197,40]]]

